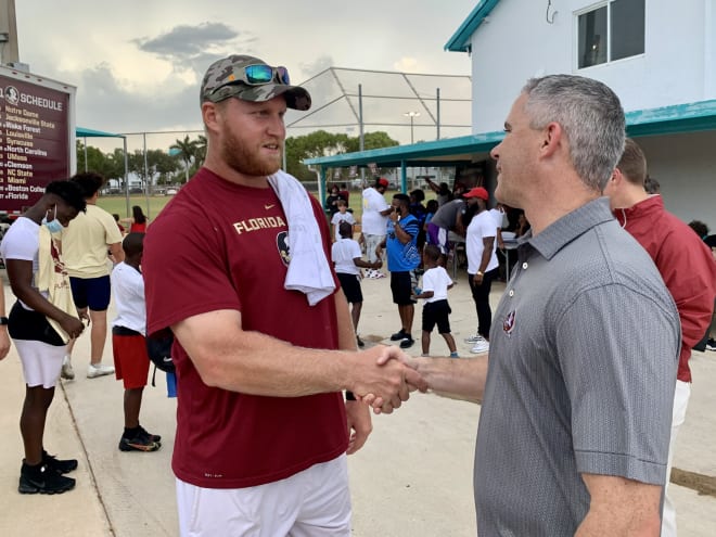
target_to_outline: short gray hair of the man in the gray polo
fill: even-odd
[[[530,127],[559,123],[577,175],[601,192],[624,151],[626,120],[619,98],[606,85],[574,75],[532,78],[522,91]]]

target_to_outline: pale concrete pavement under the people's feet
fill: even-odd
[[[7,279],[5,279],[7,281]],[[359,332],[382,342],[399,328],[388,280],[363,280],[365,303]],[[503,290],[496,284],[495,304]],[[14,302],[5,286],[8,307]],[[464,276],[450,291],[451,324],[461,356],[470,356],[462,340],[474,332],[475,310]],[[421,305],[413,336],[419,334]],[[110,312],[110,318],[113,317]],[[289,318],[289,317],[287,317]],[[433,334],[434,355],[447,351]],[[420,354],[417,343],[410,349]],[[177,535],[174,476],[174,399],[166,397],[164,375],[144,391],[142,424],[161,434],[163,447],[153,453],[120,452],[122,384],[113,376],[85,378],[89,337],[75,348],[75,381],[57,386],[50,409],[46,446],[52,453],[79,459],[76,489],[60,496],[17,493],[22,459],[18,417],[24,384],[14,348],[0,362],[0,535],[118,536],[149,533]],[[104,361],[112,362],[110,342]],[[693,391],[687,423],[678,440],[675,468],[716,480],[716,353],[694,353]],[[385,535],[474,536],[472,464],[480,406],[434,394],[413,395],[392,415],[373,420],[365,448],[349,458],[356,537]],[[716,533],[716,498],[672,486],[677,502],[679,535],[709,537]]]

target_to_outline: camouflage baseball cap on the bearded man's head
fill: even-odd
[[[243,101],[264,102],[283,95],[290,108],[301,111],[310,108],[308,91],[301,86],[290,86],[279,80],[277,73],[280,67],[274,68],[270,82],[247,84],[244,69],[251,65],[268,64],[258,57],[235,54],[214,62],[206,69],[202,81],[201,102],[218,103],[230,97]]]

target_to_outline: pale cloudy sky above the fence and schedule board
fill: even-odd
[[[201,77],[230,53],[285,65],[293,82],[331,66],[469,75],[469,56],[443,48],[476,3],[21,0],[15,8],[20,60],[77,87],[77,124],[138,132],[201,128]]]

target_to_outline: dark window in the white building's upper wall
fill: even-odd
[[[644,0],[612,0],[578,14],[578,67],[643,54],[644,25]]]

